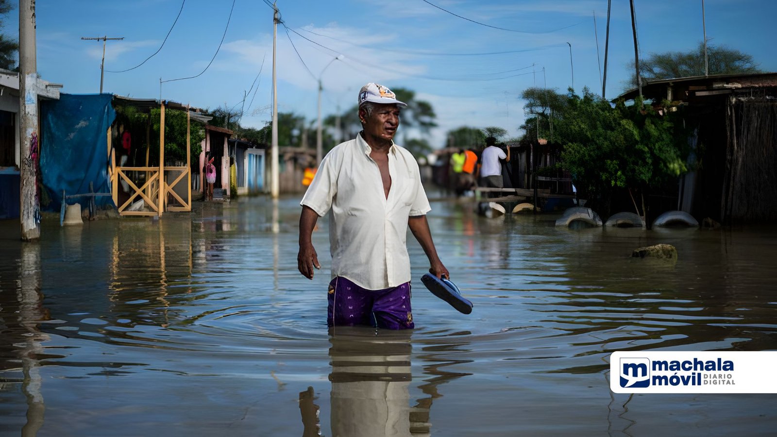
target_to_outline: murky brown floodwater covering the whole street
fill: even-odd
[[[0,435],[774,435],[777,394],[611,393],[618,350],[775,350],[777,229],[559,229],[434,201],[465,316],[326,329],[297,271],[299,207],[244,198],[161,220],[0,222]],[[676,264],[629,257],[653,243]],[[309,388],[308,388],[309,387]]]

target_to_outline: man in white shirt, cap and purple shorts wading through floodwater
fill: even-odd
[[[329,246],[330,326],[413,328],[410,309],[409,225],[440,278],[448,269],[437,257],[426,213],[431,210],[413,155],[392,141],[405,103],[385,86],[368,83],[359,92],[362,131],[336,145],[315,173],[299,218],[297,264],[305,278],[321,268],[311,242],[315,222],[332,209]]]

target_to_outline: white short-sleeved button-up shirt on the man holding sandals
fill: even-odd
[[[392,185],[386,198],[371,150],[361,135],[336,145],[322,159],[300,205],[319,216],[332,209],[332,277],[380,290],[410,281],[407,221],[431,208],[410,152],[395,144],[389,149]]]

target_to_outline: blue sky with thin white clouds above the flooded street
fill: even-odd
[[[607,98],[625,91],[634,58],[629,2],[611,3]],[[703,40],[701,0],[634,3],[640,57],[689,51]],[[427,135],[400,126],[400,145],[426,138],[441,147],[462,126],[518,136],[524,89],[563,92],[574,84],[601,94],[607,7],[607,0],[277,0],[278,110],[304,116],[315,135],[319,79],[323,117],[353,107],[361,86],[377,82],[413,90],[437,114]],[[777,71],[777,2],[706,0],[704,7],[710,44]],[[103,92],[242,108],[246,127],[270,121],[268,2],[37,0],[36,12],[38,72],[63,84],[63,93],[99,92],[103,41],[82,37],[124,37],[106,43]],[[18,9],[5,17],[2,32],[18,36],[18,17]]]

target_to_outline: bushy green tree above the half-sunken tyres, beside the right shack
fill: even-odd
[[[660,187],[688,171],[688,131],[679,112],[640,109],[641,101],[613,108],[588,89],[582,97],[568,96],[566,104],[556,141],[564,145],[562,165],[589,197],[608,198],[615,188]]]

